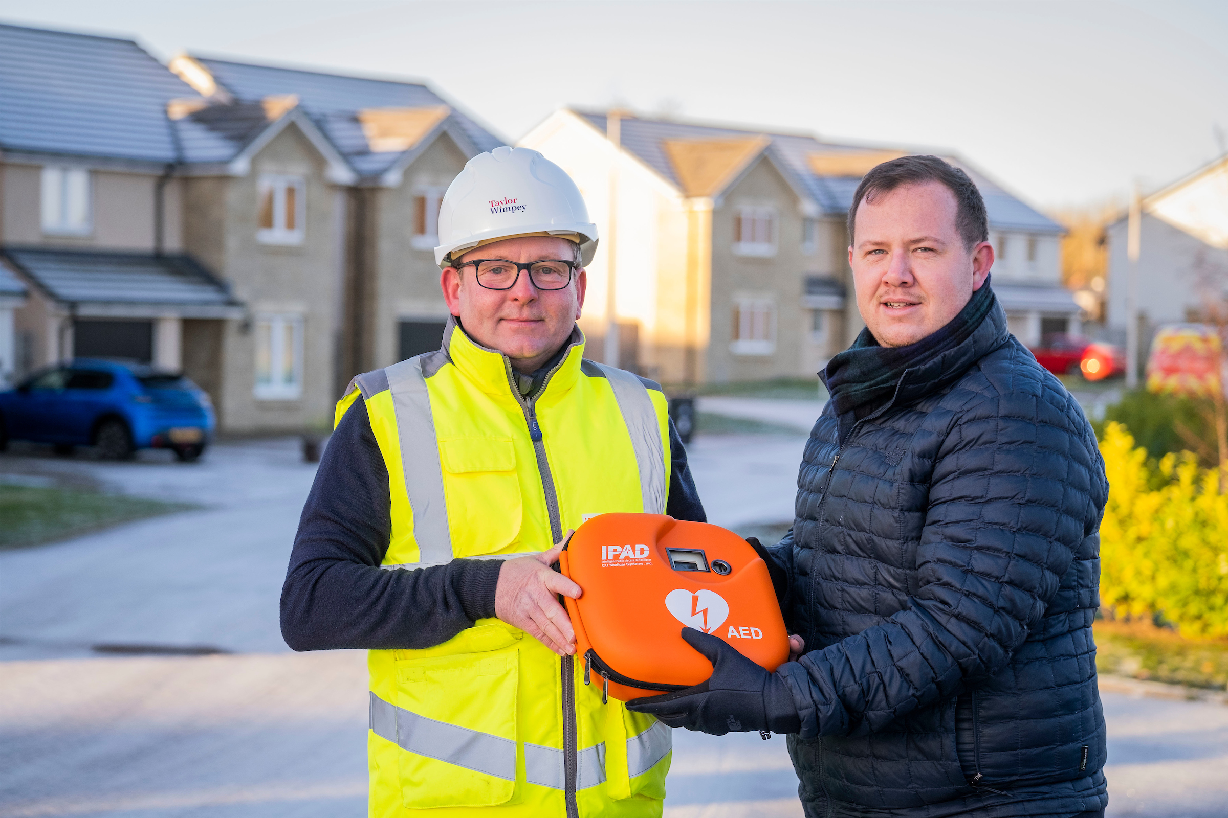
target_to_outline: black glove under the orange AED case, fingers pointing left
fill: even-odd
[[[712,662],[712,676],[695,687],[632,699],[628,710],[648,713],[670,727],[712,736],[770,730],[793,733],[802,720],[785,681],[739,654],[718,636],[683,628],[683,639]]]

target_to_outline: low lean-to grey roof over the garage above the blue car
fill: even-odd
[[[226,287],[189,255],[0,248],[23,276],[65,303],[236,305]]]

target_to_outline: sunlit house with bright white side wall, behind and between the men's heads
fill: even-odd
[[[808,377],[861,330],[845,216],[861,177],[905,151],[572,109],[521,145],[576,179],[602,233],[581,319],[591,356],[679,384]],[[1062,228],[952,161],[985,196],[1012,331],[1077,330]]]

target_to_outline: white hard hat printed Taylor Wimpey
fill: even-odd
[[[440,202],[440,247],[447,267],[453,253],[516,235],[558,235],[580,244],[581,264],[597,253],[597,226],[580,188],[558,164],[527,147],[496,147],[465,163]]]

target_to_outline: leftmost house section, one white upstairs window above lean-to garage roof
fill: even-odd
[[[188,94],[129,40],[0,26],[0,265],[28,293],[15,377],[72,356],[178,368],[196,321],[242,315],[184,251],[165,112]]]

